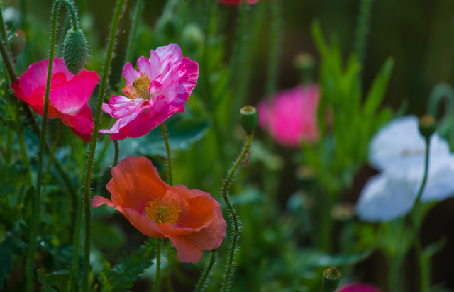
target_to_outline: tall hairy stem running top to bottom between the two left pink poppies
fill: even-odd
[[[96,113],[94,117],[94,127],[92,134],[92,142],[90,143],[89,153],[87,157],[86,169],[84,173],[84,189],[82,193],[82,200],[84,200],[84,217],[85,217],[85,240],[84,240],[84,274],[82,275],[82,291],[89,291],[89,269],[90,269],[90,244],[92,240],[92,220],[90,209],[90,183],[92,181],[92,170],[94,162],[94,152],[96,150],[96,140],[99,133],[99,120],[101,119],[101,107],[104,101],[104,94],[106,94],[107,77],[109,77],[109,69],[111,67],[112,54],[114,53],[114,45],[116,38],[116,30],[118,28],[118,21],[121,15],[121,9],[125,0],[117,0],[112,21],[111,32],[109,35],[109,44],[107,45],[106,61],[104,62],[104,69],[101,77],[101,86],[99,86],[98,103],[96,105]],[[77,242],[76,242],[77,244]],[[77,264],[74,262],[73,264]]]

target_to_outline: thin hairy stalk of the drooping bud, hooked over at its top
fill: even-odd
[[[45,131],[48,123],[48,106],[49,106],[49,95],[50,95],[50,82],[52,80],[52,68],[54,63],[55,54],[55,38],[57,35],[57,18],[58,9],[61,3],[65,3],[68,11],[72,18],[72,25],[77,29],[77,16],[69,0],[56,0],[53,5],[52,15],[52,37],[50,40],[50,53],[49,53],[49,66],[48,66],[48,78],[45,86],[44,96],[44,108],[43,108],[43,121],[41,123],[41,135],[40,135],[40,150],[38,152],[38,177],[36,181],[36,193],[33,198],[32,204],[32,227],[31,227],[31,238],[27,257],[27,284],[26,291],[32,291],[33,289],[33,264],[35,262],[35,251],[36,251],[36,237],[38,236],[38,223],[40,220],[40,196],[41,196],[41,182],[43,179],[43,154],[45,145]]]

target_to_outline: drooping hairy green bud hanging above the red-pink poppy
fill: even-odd
[[[87,40],[82,30],[68,30],[63,41],[62,55],[68,71],[74,75],[79,74],[88,58]]]

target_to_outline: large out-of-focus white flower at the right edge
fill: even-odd
[[[418,118],[405,116],[382,128],[370,142],[370,164],[382,171],[360,194],[355,213],[365,221],[387,221],[411,210],[424,173],[426,143]],[[454,155],[448,142],[431,136],[428,179],[421,201],[441,201],[454,193]]]

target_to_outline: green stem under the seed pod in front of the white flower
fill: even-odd
[[[416,200],[414,201],[413,207],[411,208],[411,228],[413,229],[413,236],[414,236],[414,247],[416,252],[416,257],[418,258],[419,264],[419,273],[420,273],[420,291],[425,292],[428,291],[428,286],[430,285],[430,271],[428,271],[426,262],[424,261],[422,254],[421,254],[421,242],[419,241],[419,228],[420,228],[420,221],[418,220],[418,210],[417,207],[419,205],[419,201],[421,199],[424,187],[426,186],[427,176],[428,176],[428,155],[429,155],[429,147],[430,147],[430,138],[426,138],[426,155],[424,158],[424,176],[423,181],[421,183],[421,187],[419,188],[418,195],[416,196]],[[416,277],[418,279],[418,277]]]

